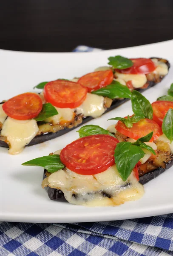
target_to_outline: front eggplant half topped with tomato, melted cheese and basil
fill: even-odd
[[[60,160],[55,172],[46,161],[43,173],[42,187],[51,200],[86,206],[115,206],[129,198],[137,200],[143,195],[142,185],[173,165],[173,101],[151,105],[133,90],[131,102],[132,116],[112,118],[118,122],[107,130],[85,125],[78,131],[80,139],[51,153],[49,157],[56,155]],[[44,157],[24,165],[45,167],[43,163]]]

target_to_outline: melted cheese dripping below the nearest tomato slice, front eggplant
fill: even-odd
[[[61,169],[48,177],[48,186],[61,189],[69,203],[90,207],[116,206],[137,200],[144,194],[144,188],[134,173],[124,182],[116,165],[96,175],[79,175]]]

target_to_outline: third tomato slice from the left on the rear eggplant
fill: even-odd
[[[82,76],[78,83],[88,88],[88,92],[93,92],[94,90],[98,90],[102,87],[111,84],[113,81],[113,72],[112,70],[105,71],[96,71],[93,73],[86,74]]]

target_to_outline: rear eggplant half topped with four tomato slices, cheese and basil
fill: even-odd
[[[25,146],[59,137],[122,105],[133,90],[143,92],[153,87],[170,68],[169,62],[162,58],[115,56],[109,58],[108,64],[111,66],[71,81],[43,82],[36,86],[43,88],[39,94],[23,93],[2,102],[0,146],[9,147],[10,154],[17,154]]]

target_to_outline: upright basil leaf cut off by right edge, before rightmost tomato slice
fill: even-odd
[[[164,116],[162,123],[162,131],[164,135],[172,142],[173,141],[173,109],[170,108]]]

